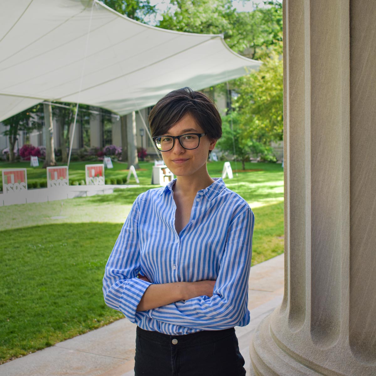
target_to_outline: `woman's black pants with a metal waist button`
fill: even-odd
[[[136,330],[135,376],[244,376],[235,329],[166,335]]]

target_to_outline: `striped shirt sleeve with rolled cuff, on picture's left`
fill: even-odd
[[[108,259],[103,277],[103,295],[106,304],[123,312],[132,323],[136,318],[137,306],[146,289],[151,285],[137,278],[140,266],[140,252],[138,239],[138,199],[121,229],[114,249]],[[139,312],[137,312],[139,313]]]

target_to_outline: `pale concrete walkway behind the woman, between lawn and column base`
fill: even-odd
[[[252,332],[281,302],[284,255],[251,268],[250,324],[236,327],[239,348],[253,376],[249,357]],[[136,325],[121,319],[55,346],[0,365],[1,376],[134,376]],[[192,375],[194,376],[194,375]],[[214,376],[214,375],[213,375]]]

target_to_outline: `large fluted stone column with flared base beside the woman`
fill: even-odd
[[[259,376],[376,375],[376,2],[285,0],[285,294]]]

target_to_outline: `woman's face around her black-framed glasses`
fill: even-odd
[[[205,132],[190,114],[186,114],[167,131],[167,135],[179,136],[185,133]],[[210,139],[207,135],[202,136],[199,147],[188,150],[184,149],[176,139],[174,147],[168,152],[162,152],[162,157],[165,165],[174,175],[200,177],[202,174],[207,174],[208,153],[209,150],[214,149],[215,143],[216,140]]]

